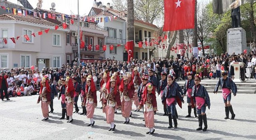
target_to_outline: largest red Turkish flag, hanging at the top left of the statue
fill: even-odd
[[[194,28],[195,0],[164,0],[164,31]]]

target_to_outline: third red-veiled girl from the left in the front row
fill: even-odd
[[[95,121],[93,120],[94,110],[97,106],[97,94],[96,86],[94,85],[92,76],[89,75],[86,78],[86,108],[87,108],[87,118],[90,119],[90,124],[87,126],[94,126]]]

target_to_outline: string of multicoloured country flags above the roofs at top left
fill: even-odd
[[[56,18],[60,18],[62,21],[66,19],[74,19],[77,18],[76,15],[68,15],[68,14],[56,14],[56,13],[51,13],[51,12],[40,12],[40,11],[32,11],[32,10],[22,10],[22,9],[16,9],[16,8],[9,8],[5,6],[0,6],[3,10],[6,10],[6,12],[14,15],[19,15],[19,16],[27,16],[27,15],[32,15],[34,17],[40,17],[40,18],[51,18],[56,20]],[[94,22],[94,23],[99,23],[99,22],[111,22],[113,19],[117,19],[117,16],[107,16],[107,17],[79,17],[81,21],[84,22]]]

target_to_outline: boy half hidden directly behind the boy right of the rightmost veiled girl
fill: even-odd
[[[164,88],[166,86],[167,86],[166,73],[162,72],[161,73],[161,80],[160,80],[159,85],[158,85],[158,96],[160,95],[161,98],[163,96]],[[163,116],[166,116],[166,115],[167,115],[166,100],[164,100],[164,114],[163,114]]]

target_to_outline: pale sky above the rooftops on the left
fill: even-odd
[[[9,2],[18,4],[17,0],[8,0]],[[52,2],[55,3],[56,12],[60,12],[63,14],[78,14],[78,0],[43,0],[42,9],[50,10]],[[101,1],[103,5],[112,4],[112,0],[97,0],[97,2]],[[208,2],[210,0],[198,0],[198,2]],[[28,2],[32,5],[33,8],[36,8],[36,4],[38,0],[28,0]],[[94,0],[79,0],[79,14],[81,16],[88,15]],[[72,13],[71,13],[72,12]]]

